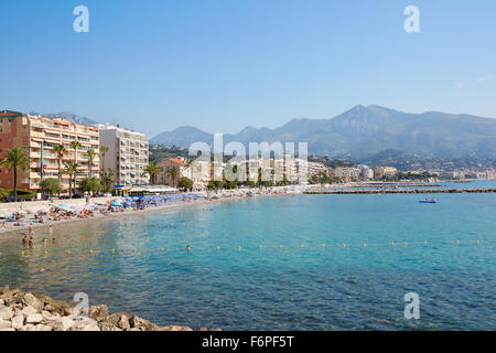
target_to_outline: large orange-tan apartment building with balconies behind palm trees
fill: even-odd
[[[73,124],[63,118],[46,118],[10,110],[1,110],[0,120],[0,158],[6,158],[7,150],[17,147],[24,151],[30,161],[28,169],[18,171],[18,188],[37,191],[43,179],[58,178],[58,154],[53,150],[56,145],[66,148],[62,158],[62,170],[67,161],[75,161],[79,165],[76,186],[83,178],[98,173],[98,128]],[[72,141],[80,143],[76,153],[69,146]],[[96,152],[91,168],[88,150]],[[0,188],[13,188],[12,173],[7,172],[6,168],[0,170]],[[68,189],[68,181],[69,175],[62,173],[64,190]]]

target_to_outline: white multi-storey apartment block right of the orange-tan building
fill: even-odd
[[[144,133],[120,126],[98,125],[100,146],[107,146],[108,152],[101,167],[112,170],[116,185],[129,189],[132,185],[149,183],[144,169],[149,161],[149,142]]]

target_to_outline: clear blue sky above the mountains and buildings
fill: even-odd
[[[89,32],[73,10],[86,6]],[[408,6],[420,33],[407,33]],[[496,1],[0,2],[0,109],[150,137],[237,132],[356,105],[496,117]]]

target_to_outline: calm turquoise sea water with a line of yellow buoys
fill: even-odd
[[[495,330],[496,194],[435,196],[226,201],[4,238],[0,285],[195,329]]]

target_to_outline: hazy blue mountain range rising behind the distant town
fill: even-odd
[[[185,133],[183,133],[185,132]],[[162,132],[154,145],[188,148],[212,145],[213,136],[192,127]],[[384,150],[439,158],[496,158],[496,119],[465,114],[408,114],[379,106],[356,106],[330,119],[293,119],[276,128],[247,127],[224,136],[224,143],[309,142],[309,152],[338,158],[366,158]]]

